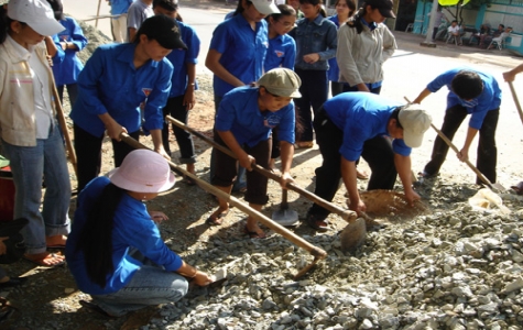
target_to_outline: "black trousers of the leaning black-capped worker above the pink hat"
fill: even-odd
[[[78,193],[95,177],[100,174],[102,136],[95,136],[84,131],[78,125],[73,127],[75,132],[75,152],[78,170]],[[131,138],[139,140],[140,131],[129,133]],[[115,153],[115,167],[119,167],[123,158],[134,148],[126,142],[111,140]]]

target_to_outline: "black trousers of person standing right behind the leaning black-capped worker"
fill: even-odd
[[[187,111],[187,107],[184,105],[184,96],[178,96],[175,98],[170,98],[165,108],[163,108],[163,116],[170,114],[176,120],[179,120],[184,124],[187,124],[189,111]],[[194,164],[196,163],[196,156],[194,152],[194,144],[193,144],[193,136],[189,132],[185,131],[184,129],[178,128],[177,125],[173,124],[173,132],[174,136],[176,136],[176,142],[178,143],[179,154],[179,163],[182,164]],[[165,121],[163,123],[162,130],[162,141],[163,147],[165,152],[171,155],[171,147],[168,145],[168,122]]]

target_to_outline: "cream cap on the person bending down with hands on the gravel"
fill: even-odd
[[[423,134],[431,128],[431,114],[420,105],[408,105],[397,114],[397,120],[403,127],[403,141],[410,147],[418,147],[423,142]]]

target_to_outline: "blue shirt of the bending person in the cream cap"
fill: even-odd
[[[389,135],[386,125],[392,112],[402,103],[370,92],[342,92],[324,103],[324,109],[334,124],[344,131],[339,153],[349,162],[356,162],[367,140]],[[403,139],[392,142],[394,153],[411,155]]]

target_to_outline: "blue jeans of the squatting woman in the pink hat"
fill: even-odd
[[[128,285],[108,295],[91,295],[92,301],[111,316],[120,317],[129,311],[152,305],[176,302],[188,290],[182,275],[157,266],[141,266]]]

